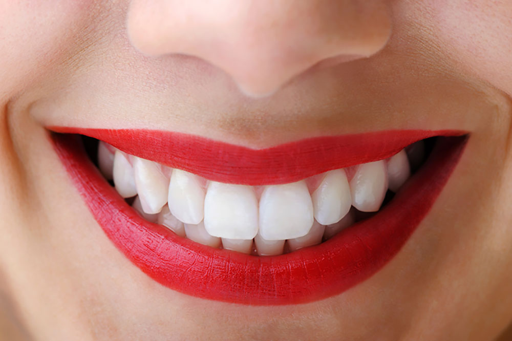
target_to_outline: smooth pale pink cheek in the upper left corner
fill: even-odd
[[[93,0],[0,0],[0,99],[70,56],[98,7]]]

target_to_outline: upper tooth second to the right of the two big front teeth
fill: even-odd
[[[377,211],[388,189],[386,162],[360,164],[350,180],[352,205],[363,212]]]

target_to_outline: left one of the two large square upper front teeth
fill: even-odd
[[[204,198],[204,227],[215,237],[253,239],[258,233],[254,189],[211,181]]]

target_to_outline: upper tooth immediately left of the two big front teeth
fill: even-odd
[[[185,224],[199,224],[203,220],[204,190],[198,176],[173,169],[168,201],[172,214]]]

